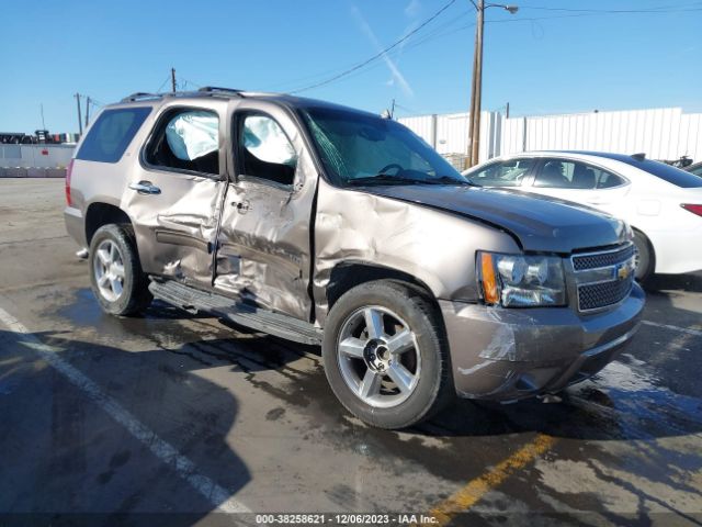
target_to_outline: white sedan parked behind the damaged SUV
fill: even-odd
[[[482,187],[561,198],[626,221],[634,228],[638,280],[702,269],[702,178],[689,171],[642,154],[530,152],[463,175]]]

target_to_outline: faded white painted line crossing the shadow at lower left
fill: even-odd
[[[179,476],[185,480],[196,492],[205,497],[218,512],[222,513],[250,513],[249,507],[241,502],[229,497],[233,493],[217,485],[212,479],[197,472],[195,463],[181,455],[173,446],[158,437],[155,431],[140,423],[134,415],[125,410],[114,399],[103,392],[95,382],[86,377],[67,361],[61,359],[57,351],[60,348],[47,346],[32,335],[22,323],[7,311],[0,307],[0,322],[10,329],[20,334],[20,344],[36,351],[42,359],[48,362],[61,373],[76,388],[82,390],[88,399],[105,411],[114,421],[124,426],[132,436],[141,441],[158,459],[173,469]]]

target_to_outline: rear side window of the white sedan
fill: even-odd
[[[579,161],[547,159],[534,187],[553,189],[609,189],[624,183],[619,176]]]

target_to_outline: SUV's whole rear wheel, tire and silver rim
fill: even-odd
[[[141,270],[131,225],[100,227],[90,242],[90,283],[102,311],[129,316],[146,310],[154,296]]]

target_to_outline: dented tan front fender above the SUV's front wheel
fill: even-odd
[[[475,301],[475,253],[514,253],[506,233],[479,222],[376,193],[319,181],[314,295],[317,319],[328,312],[332,270],[365,262],[406,272],[438,299]]]

